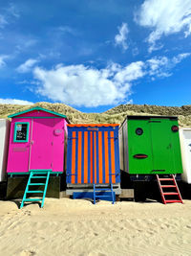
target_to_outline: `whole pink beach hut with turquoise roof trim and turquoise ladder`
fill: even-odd
[[[64,172],[64,142],[67,133],[66,116],[36,106],[9,116],[11,134],[8,175],[30,175],[23,202],[42,202],[50,175]],[[42,181],[39,182],[38,180]],[[40,190],[37,189],[41,186]],[[27,198],[41,193],[41,198]]]

